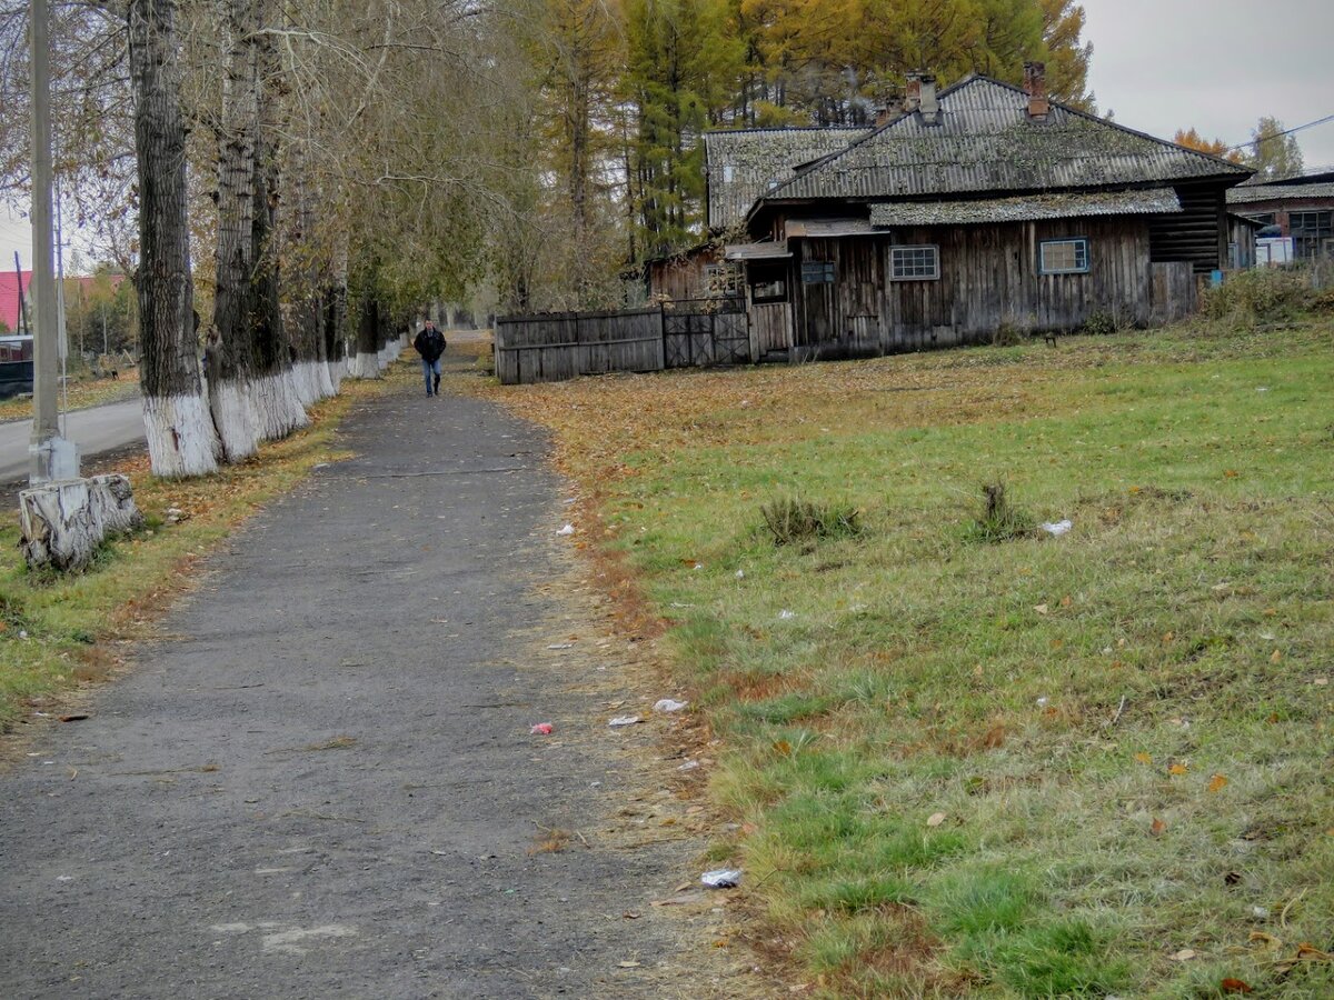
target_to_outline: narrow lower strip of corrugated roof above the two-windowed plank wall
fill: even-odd
[[[1181,211],[1171,188],[1094,191],[1081,195],[1027,195],[971,201],[882,201],[871,205],[871,225],[967,225],[1082,219],[1098,215],[1170,215]]]

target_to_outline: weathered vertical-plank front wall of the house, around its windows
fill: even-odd
[[[1070,237],[1089,240],[1089,272],[1039,273],[1038,245]],[[794,343],[802,356],[987,343],[1002,324],[1065,332],[1094,313],[1125,325],[1154,319],[1149,224],[1139,217],[908,228],[892,237],[790,243]],[[939,247],[940,277],[888,280],[896,245]],[[806,261],[832,261],[834,283],[803,284]]]

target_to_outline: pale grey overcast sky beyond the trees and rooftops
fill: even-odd
[[[1141,132],[1243,143],[1262,115],[1287,128],[1334,115],[1334,0],[1082,0],[1098,108]],[[1334,169],[1334,121],[1298,133],[1307,169]],[[0,209],[0,267],[31,237]]]

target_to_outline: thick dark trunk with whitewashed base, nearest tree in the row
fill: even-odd
[[[140,388],[153,472],[201,476],[217,469],[219,445],[199,375],[175,19],[175,0],[129,3],[129,76],[139,172],[135,289]]]

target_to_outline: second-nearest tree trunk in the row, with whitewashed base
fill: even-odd
[[[259,128],[257,0],[228,0],[229,39],[217,131],[217,248],[213,321],[208,331],[209,409],[228,461],[259,447],[251,395],[255,377],[249,323],[255,212],[255,133]]]

